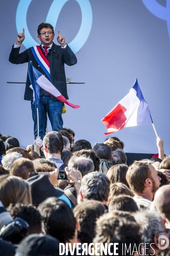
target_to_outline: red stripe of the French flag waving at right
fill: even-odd
[[[127,120],[124,112],[127,109],[118,103],[101,121],[107,127],[107,132],[104,134],[110,134],[112,132],[117,132],[125,126],[125,121]]]

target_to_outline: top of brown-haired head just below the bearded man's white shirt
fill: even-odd
[[[128,195],[119,195],[114,197],[109,203],[109,212],[114,210],[124,212],[137,212],[138,206],[132,197]]]

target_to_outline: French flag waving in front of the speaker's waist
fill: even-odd
[[[36,108],[38,107],[39,103],[39,95],[40,95],[40,87],[47,91],[49,94],[52,94],[54,97],[56,97],[58,100],[61,100],[63,103],[66,103],[70,107],[74,109],[80,108],[78,105],[74,105],[70,103],[66,98],[58,91],[57,88],[46,78],[41,74],[36,68],[32,66],[32,62],[29,63],[29,79],[31,81],[30,88],[34,90],[34,102],[33,104],[36,105]]]

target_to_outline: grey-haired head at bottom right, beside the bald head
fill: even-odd
[[[145,255],[157,255],[161,251],[158,237],[164,235],[169,239],[170,236],[161,217],[153,211],[137,212],[134,217],[141,227],[142,243],[147,243]]]

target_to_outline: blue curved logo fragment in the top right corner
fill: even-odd
[[[167,21],[167,29],[170,38],[170,0],[167,0],[167,7],[160,5],[156,0],[142,0],[142,2],[153,15]]]

